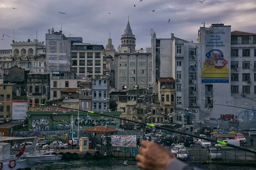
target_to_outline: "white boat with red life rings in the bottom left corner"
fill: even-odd
[[[21,156],[11,154],[11,144],[3,143],[12,140],[32,140],[32,146],[35,146],[38,141],[38,137],[6,137],[0,136],[0,170],[35,170],[35,166],[26,160],[26,156],[32,151],[30,148],[27,153],[23,153]]]

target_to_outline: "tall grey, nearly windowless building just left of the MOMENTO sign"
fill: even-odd
[[[46,36],[46,71],[70,71],[71,42],[62,34],[49,29]]]

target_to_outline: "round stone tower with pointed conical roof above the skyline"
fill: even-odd
[[[135,35],[132,33],[131,26],[129,23],[129,16],[128,16],[128,22],[125,28],[125,33],[121,37],[121,46],[128,46],[131,51],[135,51],[135,46],[136,46],[136,38]]]

